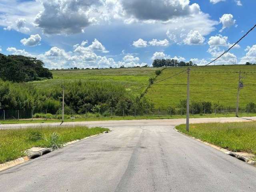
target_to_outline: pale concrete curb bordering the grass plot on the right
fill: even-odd
[[[192,138],[192,139],[194,139],[194,140],[196,140],[196,141],[198,141],[198,142],[201,142],[201,143],[206,144],[206,145],[208,145],[208,146],[210,146],[210,147],[212,147],[212,148],[215,148],[215,149],[217,149],[217,150],[219,150],[219,151],[221,151],[221,152],[223,152],[223,153],[225,153],[225,154],[227,154],[227,155],[230,155],[230,156],[235,157],[235,158],[237,158],[237,159],[239,159],[239,160],[242,160],[242,161],[244,161],[244,162],[246,162],[246,163],[248,163],[248,164],[250,164],[250,165],[256,166],[256,162],[255,162],[254,160],[251,160],[251,159],[249,159],[249,158],[247,158],[247,157],[245,157],[245,156],[242,156],[242,155],[237,154],[237,153],[235,153],[235,152],[226,150],[226,149],[224,149],[224,148],[221,148],[221,147],[216,146],[216,145],[214,145],[214,144],[211,144],[211,143],[209,143],[209,142],[203,141],[203,140],[201,140],[201,139],[198,139],[198,138],[189,136],[189,135],[187,135],[187,134],[184,134],[184,133],[180,132],[179,130],[177,130],[176,128],[174,128],[174,130],[175,130],[176,132],[179,132],[180,134],[183,134],[183,135],[185,135],[185,136],[187,136],[187,137],[189,137],[189,138]]]

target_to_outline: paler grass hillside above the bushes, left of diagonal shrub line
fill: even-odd
[[[111,82],[122,85],[126,90],[132,90],[145,86],[145,88],[134,91],[140,94],[148,85],[148,79],[155,76],[157,68],[120,68],[120,69],[99,69],[99,70],[52,70],[53,79],[35,82],[40,88],[49,88],[62,82],[76,80],[90,80]]]

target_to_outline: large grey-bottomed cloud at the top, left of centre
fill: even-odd
[[[92,6],[99,0],[43,0],[44,10],[35,19],[35,24],[46,34],[75,34],[95,22],[90,17]]]

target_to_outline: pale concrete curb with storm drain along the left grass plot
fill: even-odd
[[[111,130],[109,132],[111,132]],[[70,142],[65,143],[63,145],[63,147],[66,147],[68,145],[77,143],[77,142],[82,141],[82,140],[86,140],[86,139],[89,139],[89,138],[92,138],[92,137],[96,137],[96,136],[99,136],[99,135],[102,135],[102,134],[106,134],[106,133],[109,133],[109,132],[104,131],[103,133],[100,133],[100,134],[91,135],[91,136],[88,136],[88,137],[85,137],[85,138],[82,138],[82,139],[70,141]],[[52,152],[52,151],[53,150],[51,148],[44,148],[43,150],[39,150],[39,151],[31,153],[31,154],[29,154],[27,156],[20,157],[20,158],[18,158],[16,160],[12,160],[12,161],[8,161],[6,163],[0,164],[0,172],[4,171],[6,169],[12,168],[14,166],[23,164],[23,163],[25,163],[25,162],[27,162],[27,161],[29,161],[31,159],[37,158],[39,156],[42,156],[42,155],[47,154],[47,153]]]

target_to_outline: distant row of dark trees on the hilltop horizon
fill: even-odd
[[[192,61],[184,62],[175,59],[155,59],[152,63],[153,67],[182,67],[182,66],[196,66]]]

